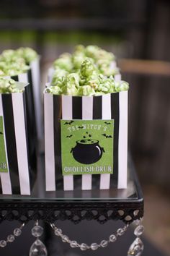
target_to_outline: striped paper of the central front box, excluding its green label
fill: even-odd
[[[120,79],[120,74],[117,74],[115,80]],[[44,103],[46,190],[54,191],[56,189],[55,185],[62,175],[61,119],[114,119],[114,174],[100,174],[99,189],[109,189],[110,175],[114,175],[118,188],[126,188],[128,172],[128,91],[83,97],[44,93]],[[63,189],[75,189],[73,175],[63,176]],[[81,176],[81,189],[93,189],[91,174]]]

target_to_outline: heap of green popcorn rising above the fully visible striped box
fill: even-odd
[[[55,60],[51,86],[53,88],[47,92],[82,96],[128,90],[128,83],[114,80],[113,76],[119,73],[117,67],[112,67],[114,59],[115,56],[112,53],[98,46],[76,46],[72,55],[62,54]]]

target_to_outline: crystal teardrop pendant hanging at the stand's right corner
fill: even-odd
[[[140,236],[143,234],[144,226],[142,225],[142,219],[140,221],[135,222],[138,226],[136,226],[134,230],[134,234],[136,239],[133,241],[133,243],[130,245],[128,249],[128,256],[140,256],[142,255],[144,245],[142,240],[140,239]]]

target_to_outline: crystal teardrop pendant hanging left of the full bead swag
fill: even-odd
[[[43,244],[39,237],[43,234],[42,226],[38,225],[38,221],[36,221],[35,226],[32,228],[32,236],[35,236],[37,239],[30,247],[30,254],[29,256],[48,256],[47,249],[45,244]]]

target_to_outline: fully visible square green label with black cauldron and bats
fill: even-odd
[[[61,120],[63,175],[113,173],[114,120]]]

